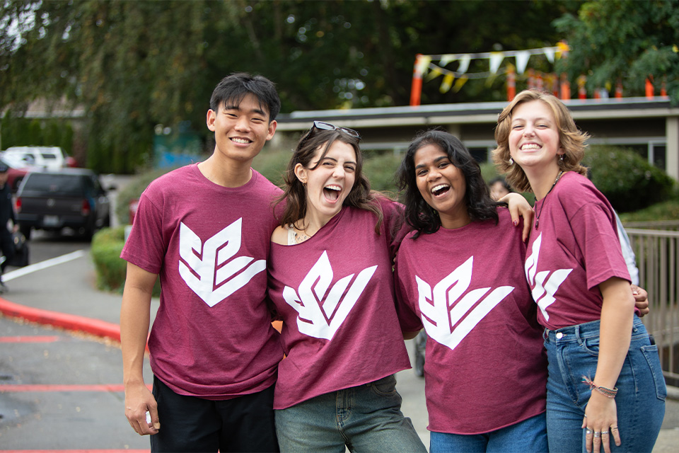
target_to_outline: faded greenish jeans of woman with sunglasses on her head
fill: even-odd
[[[426,448],[401,412],[396,378],[332,391],[275,411],[282,452],[422,452]]]

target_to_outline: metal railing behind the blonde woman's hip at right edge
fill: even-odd
[[[651,314],[642,318],[644,325],[658,345],[666,381],[679,386],[679,231],[673,228],[679,221],[652,223],[666,229],[628,228],[629,222],[625,231],[637,256],[639,286],[649,293]]]

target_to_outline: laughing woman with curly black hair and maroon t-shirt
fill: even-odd
[[[397,181],[414,229],[397,254],[397,309],[403,331],[429,337],[430,452],[547,452],[547,362],[521,229],[448,132],[415,137]]]

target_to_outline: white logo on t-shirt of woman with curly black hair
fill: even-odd
[[[471,256],[447,277],[443,277],[433,291],[429,284],[415,276],[424,330],[429,337],[451,350],[514,289],[513,286],[497,287],[487,296],[490,287],[472,289],[462,297],[472,280],[473,262],[474,257]]]

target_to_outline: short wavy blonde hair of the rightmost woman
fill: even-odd
[[[518,165],[509,163],[509,132],[511,132],[511,114],[518,106],[530,101],[542,101],[552,110],[557,127],[559,128],[559,142],[564,149],[564,159],[558,159],[559,169],[562,171],[575,171],[581,175],[587,174],[587,168],[580,162],[585,155],[586,140],[589,134],[582,132],[575,125],[568,108],[564,103],[552,95],[538,90],[524,90],[513,98],[497,118],[495,127],[495,142],[497,148],[492,151],[493,161],[499,173],[506,173],[506,180],[514,190],[519,192],[533,192],[526,178],[526,173]]]

